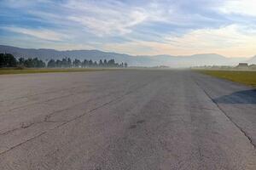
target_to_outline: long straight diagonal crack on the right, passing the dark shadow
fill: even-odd
[[[195,78],[193,78],[195,84],[201,88],[200,84],[195,80]],[[232,122],[240,131],[241,133],[243,133],[243,135],[249,140],[249,143],[253,145],[253,149],[256,149],[256,145],[253,144],[253,140],[251,139],[251,137],[249,135],[247,135],[247,133],[242,129],[242,127],[240,127],[236,122],[234,122],[232,120],[232,118],[218,105],[218,103],[216,101],[214,101],[214,99],[212,99],[211,95],[207,93],[207,91],[204,88],[201,88],[201,90],[207,95],[207,97],[209,99],[212,100],[212,102],[218,107],[219,111],[221,111],[222,113],[224,113],[224,116],[226,116],[230,122]]]

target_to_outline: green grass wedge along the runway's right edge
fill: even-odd
[[[212,77],[224,78],[233,82],[240,82],[256,88],[256,71],[210,71],[200,70],[199,72]]]

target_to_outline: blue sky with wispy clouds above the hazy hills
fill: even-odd
[[[0,0],[0,44],[252,57],[255,8],[256,0]]]

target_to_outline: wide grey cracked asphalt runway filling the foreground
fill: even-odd
[[[256,92],[192,71],[0,77],[0,169],[256,169]]]

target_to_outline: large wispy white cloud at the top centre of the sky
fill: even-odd
[[[161,9],[151,3],[134,7],[118,1],[92,3],[76,0],[69,1],[65,8],[69,9],[68,20],[79,23],[97,36],[124,35],[143,22],[165,20]]]

